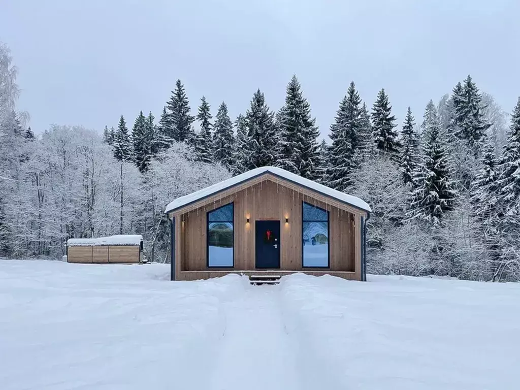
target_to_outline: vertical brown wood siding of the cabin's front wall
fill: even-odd
[[[235,266],[229,270],[255,269],[255,220],[280,220],[281,270],[305,270],[312,272],[348,271],[359,272],[359,257],[356,257],[355,229],[356,218],[361,213],[351,213],[337,207],[339,202],[331,202],[322,196],[316,197],[309,191],[299,191],[291,188],[281,180],[268,179],[255,181],[249,187],[238,189],[236,192],[221,194],[219,198],[207,199],[199,208],[189,212],[175,214],[176,224],[177,264],[176,274],[183,271],[206,270],[206,213],[219,206],[233,202],[234,210],[234,238],[235,238]],[[330,268],[302,267],[302,202],[314,204],[330,212],[329,243]],[[355,211],[352,207],[349,210]],[[363,214],[364,215],[364,214]],[[285,218],[289,223],[285,224]],[[250,218],[250,223],[246,223]],[[359,226],[359,224],[358,224]],[[356,260],[357,259],[357,260]],[[214,268],[211,268],[211,274]],[[178,280],[180,276],[177,277]]]

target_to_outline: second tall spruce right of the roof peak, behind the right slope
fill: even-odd
[[[340,103],[329,137],[330,163],[327,183],[331,188],[345,191],[353,184],[353,173],[359,165],[358,135],[362,129],[361,99],[354,82]]]

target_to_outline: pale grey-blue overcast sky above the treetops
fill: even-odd
[[[176,79],[192,111],[205,95],[234,119],[257,88],[278,110],[295,73],[323,135],[351,80],[369,107],[384,87],[399,127],[469,73],[510,112],[518,15],[518,0],[0,0],[0,41],[37,133],[158,117]]]

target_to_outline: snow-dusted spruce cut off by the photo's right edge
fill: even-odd
[[[504,213],[520,218],[520,97],[511,115],[510,133],[500,160],[498,186]]]

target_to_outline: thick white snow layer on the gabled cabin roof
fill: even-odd
[[[254,170],[242,173],[241,175],[231,177],[230,179],[220,181],[220,183],[216,183],[212,186],[203,188],[199,191],[195,191],[193,193],[185,195],[184,197],[177,198],[166,206],[166,210],[164,212],[169,213],[171,211],[179,209],[180,207],[184,207],[190,203],[193,203],[193,202],[196,202],[203,198],[209,197],[220,191],[224,191],[228,188],[231,188],[233,186],[236,186],[236,185],[242,183],[243,181],[247,181],[254,177],[260,176],[264,173],[270,173],[270,174],[278,176],[282,179],[292,181],[293,183],[296,183],[303,187],[309,188],[311,190],[315,190],[323,195],[326,195],[333,199],[339,200],[343,203],[352,205],[352,206],[356,207],[357,209],[365,210],[368,212],[372,211],[367,202],[365,202],[357,197],[348,195],[341,191],[334,190],[334,189],[324,186],[322,184],[316,183],[316,181],[306,179],[306,178],[296,175],[294,173],[282,170],[282,168],[277,168],[274,166],[263,166],[263,167],[255,168]]]

